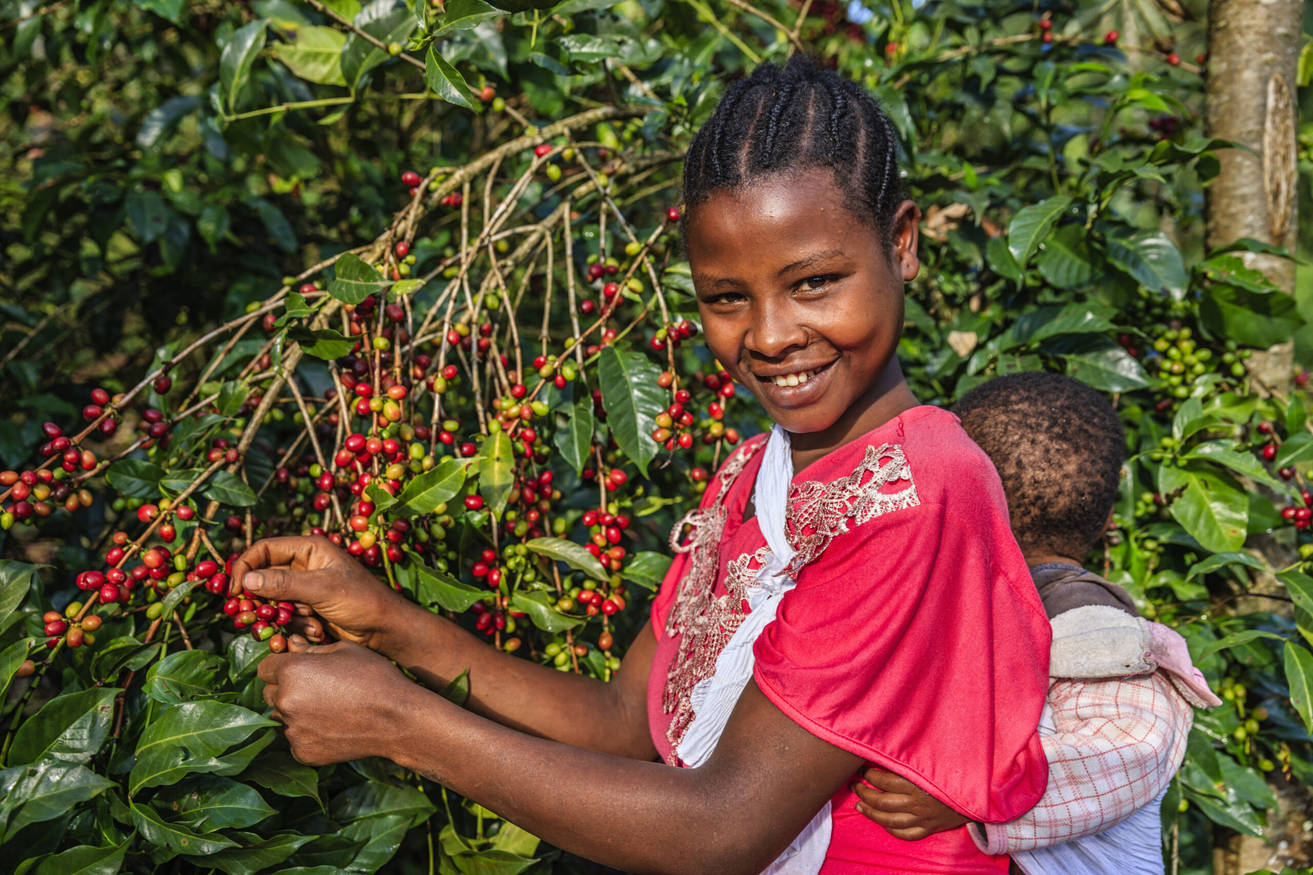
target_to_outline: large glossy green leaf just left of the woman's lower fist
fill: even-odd
[[[173,704],[142,732],[127,792],[135,796],[138,790],[173,783],[192,771],[217,771],[225,763],[215,757],[272,725],[277,724],[253,711],[213,699]]]

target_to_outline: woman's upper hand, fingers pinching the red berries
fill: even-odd
[[[257,540],[232,564],[232,585],[253,596],[297,603],[291,628],[310,641],[324,632],[386,652],[415,607],[327,538]]]

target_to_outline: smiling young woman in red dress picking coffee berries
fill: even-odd
[[[280,538],[234,580],[339,641],[268,657],[265,699],[303,762],[391,758],[633,872],[1006,871],[965,829],[894,838],[850,788],[874,763],[998,823],[1045,784],[1049,631],[998,478],[894,356],[920,213],[889,121],[805,59],[762,66],[684,186],[708,346],[779,425],[676,526],[618,677],[512,659],[327,540]],[[389,659],[429,689],[469,669],[466,707]]]

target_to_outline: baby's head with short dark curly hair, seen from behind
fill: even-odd
[[[1125,430],[1085,383],[1028,371],[998,376],[953,408],[1003,480],[1022,552],[1083,561],[1117,500]]]

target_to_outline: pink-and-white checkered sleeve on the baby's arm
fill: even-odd
[[[985,824],[987,854],[1092,836],[1152,802],[1186,756],[1194,708],[1162,672],[1111,680],[1058,680],[1049,687],[1054,735],[1045,737],[1049,784],[1039,804],[1006,824]]]

